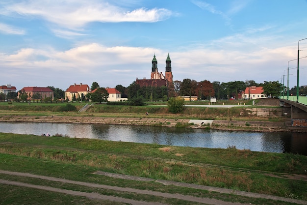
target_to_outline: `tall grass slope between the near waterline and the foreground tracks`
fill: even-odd
[[[272,177],[304,174],[307,158],[300,155],[252,152],[235,147],[208,149],[3,133],[0,142],[6,142],[0,144],[0,153],[36,159],[38,163],[51,161],[282,197],[294,194],[307,199],[305,181]],[[20,168],[33,171],[32,164],[14,167],[23,171]],[[273,172],[272,176],[266,175],[267,172]]]

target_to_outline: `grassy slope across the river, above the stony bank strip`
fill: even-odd
[[[232,101],[231,101],[232,102]],[[160,103],[160,102],[159,102]],[[191,104],[204,102],[187,102]],[[69,103],[80,110],[85,103]],[[211,119],[211,120],[256,120],[256,121],[285,121],[286,117],[257,117],[251,116],[248,108],[208,108],[208,107],[185,107],[179,114],[171,114],[167,106],[109,106],[106,104],[95,104],[85,113],[61,112],[61,107],[67,103],[17,103],[7,105],[0,102],[0,116],[5,115],[31,115],[31,116],[89,116],[89,117],[138,117],[138,118],[171,118],[171,119]],[[254,107],[254,106],[253,106]],[[254,107],[256,108],[256,107]],[[263,108],[263,107],[262,107]],[[270,108],[272,109],[272,108]],[[280,107],[274,107],[272,112],[281,110]],[[149,116],[145,113],[148,112]]]

